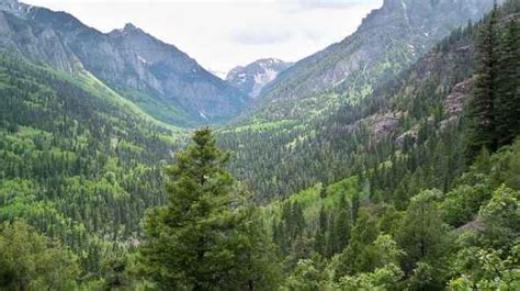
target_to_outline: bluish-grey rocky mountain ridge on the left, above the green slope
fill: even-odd
[[[176,46],[132,24],[105,34],[65,12],[14,0],[0,9],[0,47],[68,74],[87,70],[160,121],[221,123],[249,102]]]

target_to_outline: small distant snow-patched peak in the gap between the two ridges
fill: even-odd
[[[244,67],[235,67],[227,74],[226,81],[255,99],[260,94],[263,87],[272,82],[280,72],[292,65],[292,63],[275,58],[262,58]]]

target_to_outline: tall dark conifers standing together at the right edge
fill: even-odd
[[[495,152],[520,134],[520,27],[516,18],[501,18],[500,11],[495,5],[478,34],[476,88],[470,103],[470,163],[483,148]]]

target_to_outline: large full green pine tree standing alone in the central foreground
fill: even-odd
[[[193,142],[167,170],[168,204],[145,217],[143,272],[167,290],[252,290],[259,280],[269,287],[258,271],[268,269],[261,258],[271,259],[269,243],[224,170],[228,155],[210,130],[196,131]]]

